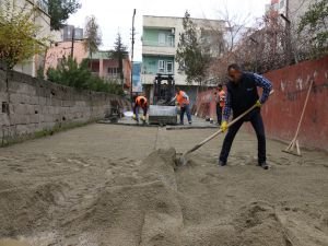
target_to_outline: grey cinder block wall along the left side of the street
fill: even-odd
[[[38,80],[0,70],[0,145],[35,132],[104,118],[117,105],[130,109],[125,98]]]

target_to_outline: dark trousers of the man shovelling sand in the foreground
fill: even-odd
[[[260,164],[267,160],[265,125],[260,112],[259,110],[251,112],[248,120],[250,121],[256,132],[257,142],[258,142],[258,163]],[[242,125],[244,124],[244,121],[245,119],[241,119],[227,129],[227,133],[224,138],[222,150],[219,157],[220,161],[226,163],[234,138],[237,131],[239,130],[239,128],[242,127]]]

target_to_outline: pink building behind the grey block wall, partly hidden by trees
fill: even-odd
[[[71,56],[72,43],[71,42],[58,42],[51,45],[47,50],[45,72],[49,68],[56,68],[63,57]],[[119,78],[118,60],[110,57],[112,51],[97,51],[92,54],[92,58],[85,50],[83,40],[75,40],[73,46],[73,57],[81,63],[83,59],[91,59],[91,70],[99,78],[107,80],[108,82],[121,83]],[[124,70],[124,87],[129,89],[131,85],[131,61],[129,56],[122,61]]]

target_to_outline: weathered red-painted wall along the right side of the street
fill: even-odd
[[[297,140],[301,148],[328,151],[328,57],[289,66],[263,75],[272,82],[274,89],[274,94],[261,109],[267,136],[283,141],[294,138],[313,82]],[[215,119],[213,90],[198,94],[197,114]]]

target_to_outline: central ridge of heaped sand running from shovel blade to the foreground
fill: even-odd
[[[93,232],[105,245],[180,245],[183,216],[174,167],[174,149],[151,153],[137,175],[107,183],[65,226]]]

